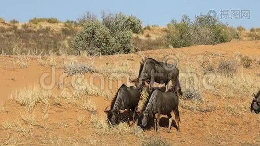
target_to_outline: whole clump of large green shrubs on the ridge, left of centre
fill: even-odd
[[[83,29],[74,38],[73,48],[76,55],[86,50],[90,55],[112,55],[134,51],[132,31],[137,32],[138,20],[122,13],[102,12],[102,23],[92,21],[92,15],[84,23]],[[141,29],[141,23],[140,23]]]

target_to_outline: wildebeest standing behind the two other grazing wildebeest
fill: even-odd
[[[134,83],[138,89],[144,86],[145,82],[150,83],[151,89],[153,89],[154,82],[167,85],[169,81],[172,81],[176,93],[182,95],[179,69],[172,64],[158,62],[152,58],[142,60],[138,78],[131,79],[129,77],[129,81]]]

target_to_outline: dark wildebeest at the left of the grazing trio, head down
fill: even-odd
[[[119,123],[119,113],[120,110],[128,110],[128,122],[130,123],[130,109],[133,112],[133,123],[135,122],[135,112],[134,108],[138,105],[140,99],[140,91],[134,86],[127,87],[126,85],[121,85],[118,89],[115,97],[111,101],[110,110],[108,107],[104,110],[107,114],[108,122],[112,125]]]

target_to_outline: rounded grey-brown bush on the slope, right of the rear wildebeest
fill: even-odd
[[[222,60],[218,65],[217,72],[225,76],[233,76],[237,73],[237,64],[234,60]]]

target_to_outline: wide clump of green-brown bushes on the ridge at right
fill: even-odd
[[[180,23],[172,20],[167,25],[166,44],[178,47],[187,47],[193,44],[217,44],[228,42],[238,38],[239,33],[232,27],[221,23],[217,18],[210,15],[196,16],[191,21],[189,16],[184,15]]]

